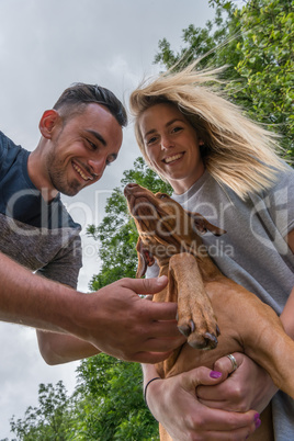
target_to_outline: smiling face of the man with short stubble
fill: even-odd
[[[88,104],[53,132],[46,155],[49,188],[74,196],[99,181],[116,159],[122,139],[122,127],[109,110]]]

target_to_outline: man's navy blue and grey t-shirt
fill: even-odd
[[[0,251],[32,271],[77,286],[80,225],[58,194],[44,201],[27,173],[30,151],[0,132]]]

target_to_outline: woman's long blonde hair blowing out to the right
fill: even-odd
[[[195,70],[196,64],[180,72],[170,69],[143,82],[131,94],[135,135],[146,162],[158,173],[148,160],[139,117],[155,104],[171,103],[204,142],[201,151],[205,168],[220,185],[228,185],[241,199],[268,189],[276,172],[286,167],[275,152],[280,148],[278,135],[244,116],[240,108],[223,97],[217,76],[224,68]]]

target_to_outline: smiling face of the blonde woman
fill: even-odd
[[[152,167],[181,194],[203,174],[195,129],[173,104],[155,104],[139,117],[146,156]]]

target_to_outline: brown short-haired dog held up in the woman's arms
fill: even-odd
[[[206,230],[225,231],[167,194],[128,184],[125,196],[139,233],[137,276],[156,259],[169,284],[154,299],[178,302],[178,326],[188,337],[188,343],[157,365],[159,374],[168,377],[200,365],[213,369],[218,358],[245,352],[294,398],[294,341],[271,307],[220,273],[200,238]],[[261,420],[250,440],[273,439],[270,406]],[[171,440],[162,427],[160,439]]]

